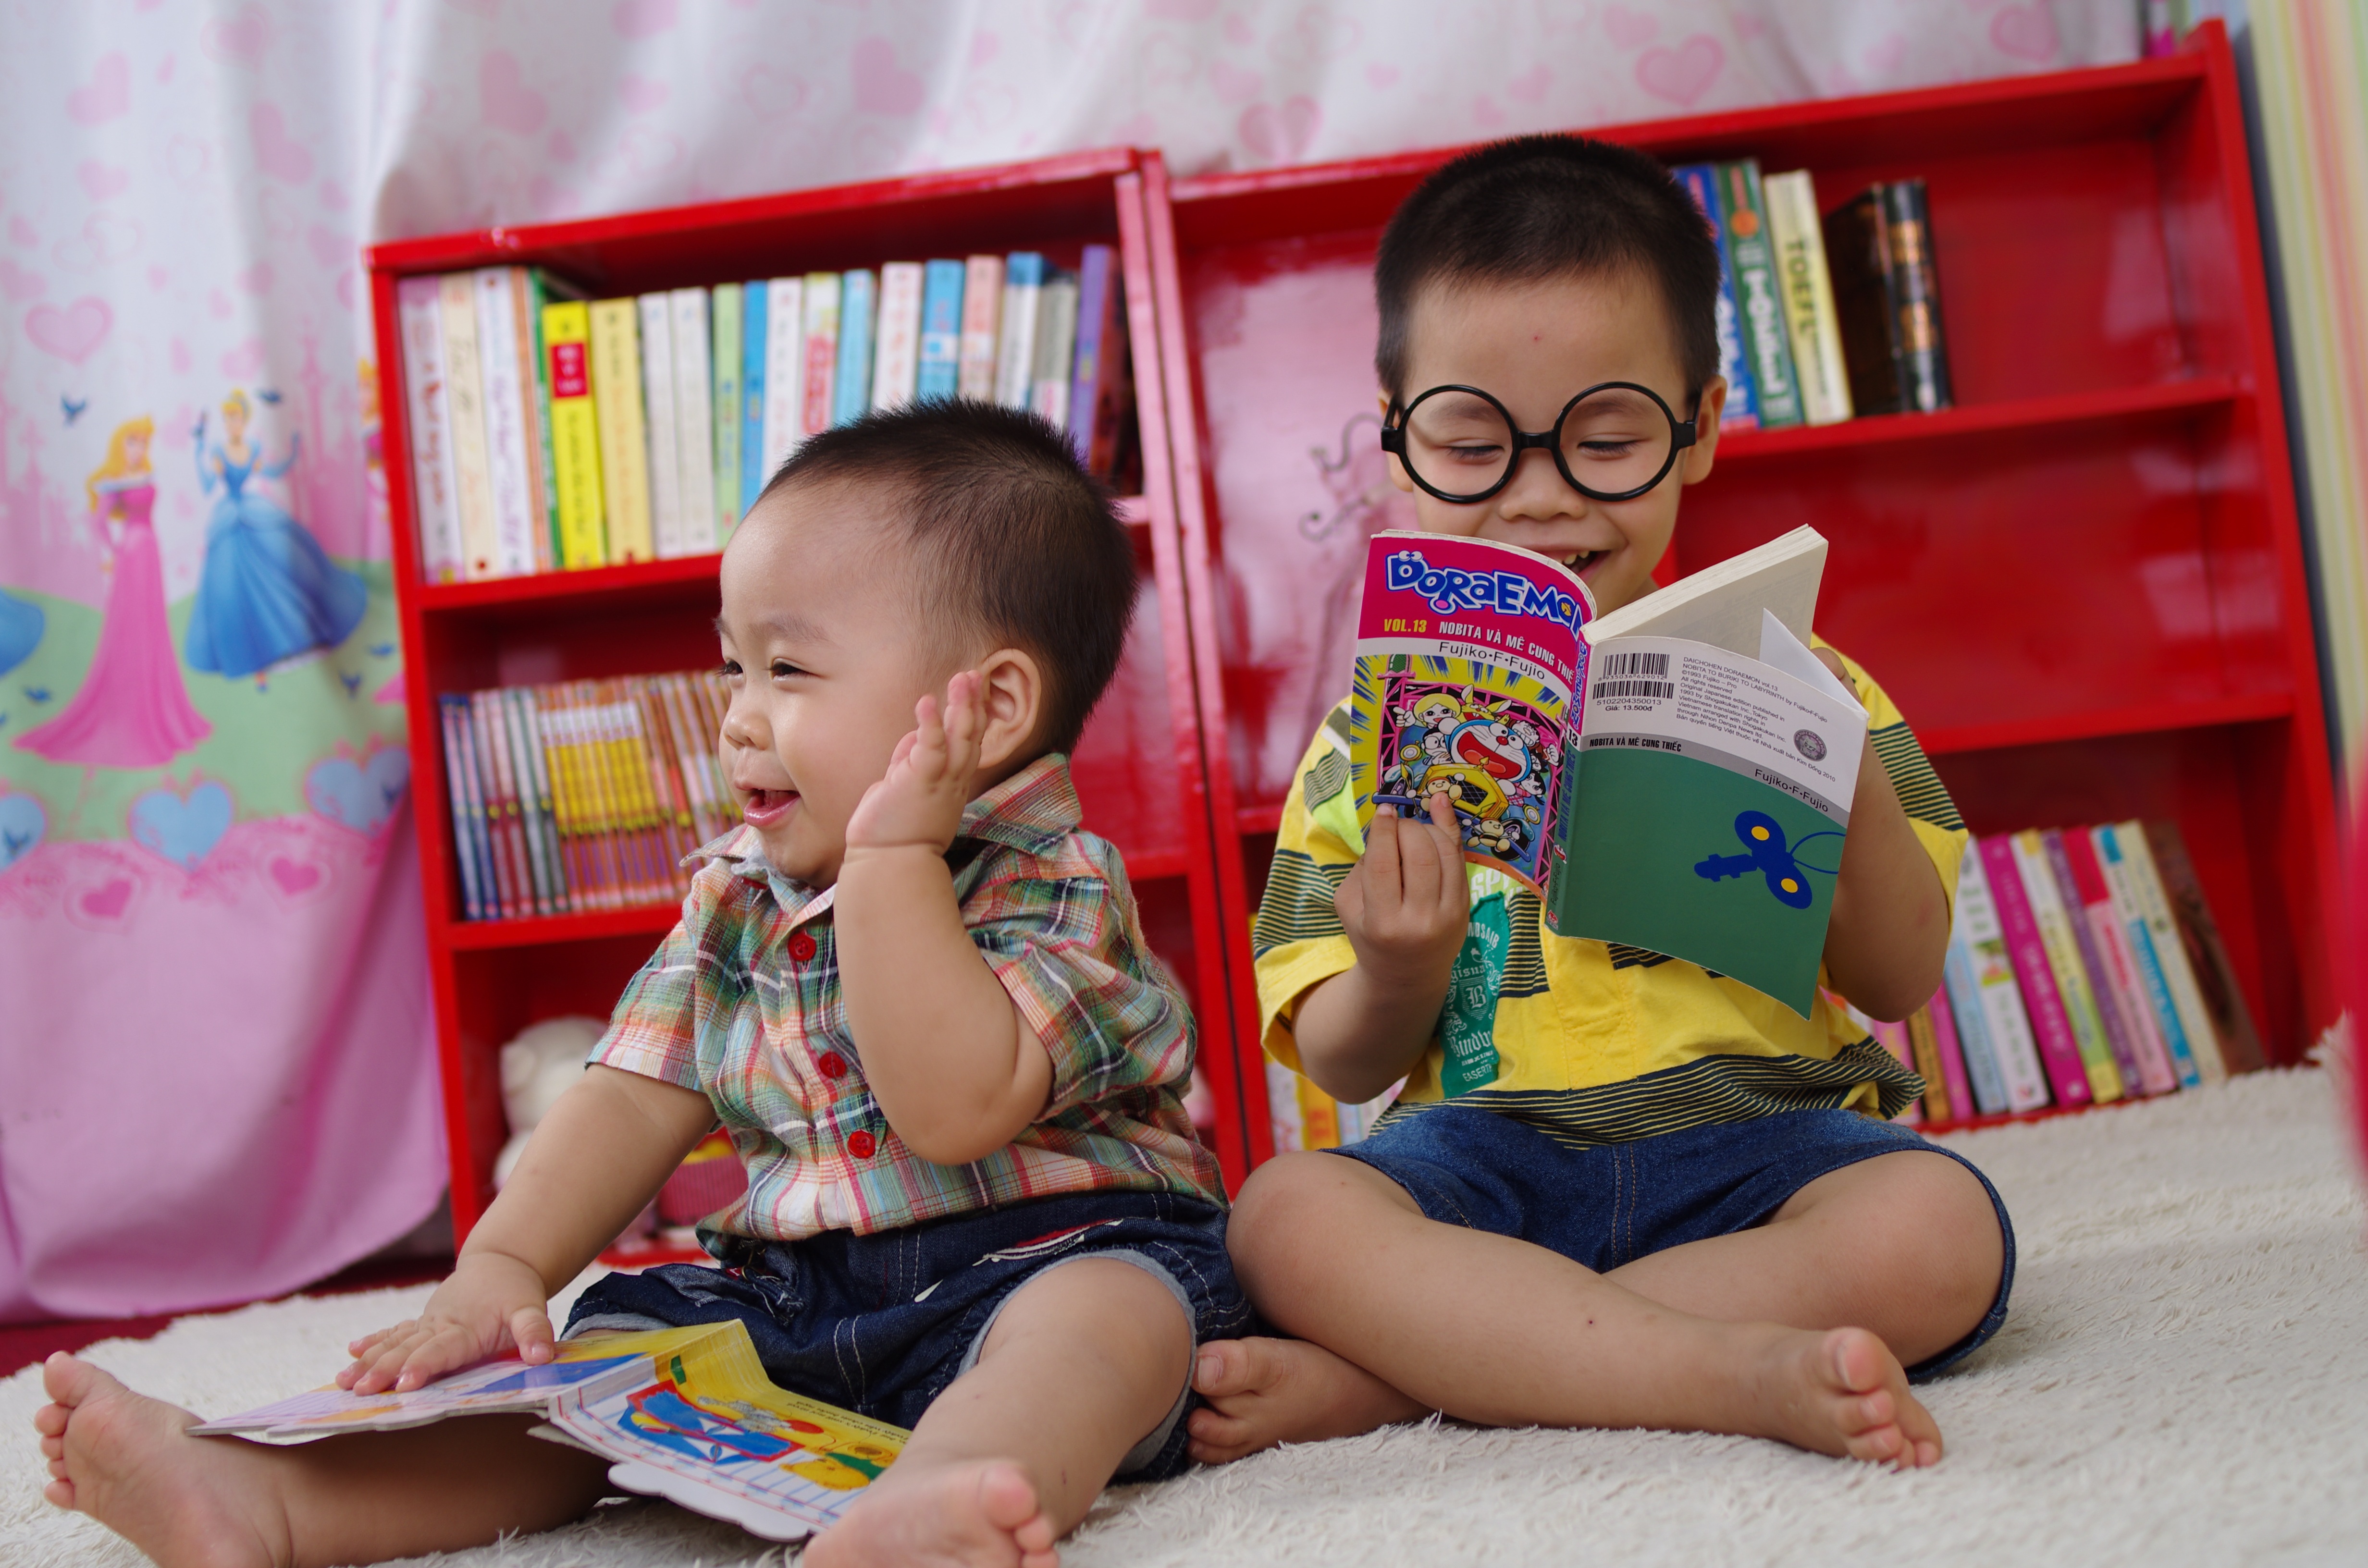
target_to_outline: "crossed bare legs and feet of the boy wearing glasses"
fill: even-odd
[[[1861,1158],[1767,1225],[1603,1274],[1430,1220],[1373,1165],[1300,1153],[1250,1177],[1229,1246],[1260,1312],[1300,1338],[1201,1350],[1203,1461],[1440,1409],[1932,1464],[1939,1428],[1902,1362],[1973,1334],[2006,1267],[1989,1189],[1932,1151]]]

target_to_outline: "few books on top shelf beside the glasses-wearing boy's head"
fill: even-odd
[[[1807,168],[1681,163],[1719,239],[1724,422],[1838,424],[1951,405],[1923,180],[1883,180],[1823,218]]]

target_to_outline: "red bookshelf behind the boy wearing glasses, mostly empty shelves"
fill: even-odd
[[[2179,820],[2278,1061],[2337,1011],[2335,808],[2252,173],[2219,24],[2169,59],[1598,135],[1923,175],[1958,407],[1738,431],[1662,578],[1797,523],[1819,630],[1885,682],[1975,831]],[[1146,171],[1234,1023],[1300,748],[1347,687],[1376,445],[1381,225],[1461,149]],[[1250,1144],[1269,1149],[1262,1097]]]

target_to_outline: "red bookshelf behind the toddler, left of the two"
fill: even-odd
[[[1148,159],[1156,166],[1156,159]],[[1087,827],[1127,860],[1153,945],[1205,1018],[1227,1016],[1229,964],[1201,765],[1198,708],[1167,412],[1158,365],[1146,159],[1089,152],[1004,168],[810,189],[583,223],[405,239],[372,249],[381,343],[398,343],[395,282],[419,272],[530,263],[597,296],[639,294],[893,258],[1044,251],[1075,265],[1089,242],[1115,244],[1137,355],[1144,495],[1127,502],[1141,599],[1118,685],[1075,756]],[[606,1016],[628,976],[673,926],[675,905],[469,921],[450,846],[436,696],[493,685],[703,668],[715,661],[715,564],[689,557],[635,566],[422,585],[412,523],[403,367],[386,365],[386,474],[395,516],[412,779],[417,782],[429,964],[452,1146],[452,1220],[466,1234],[493,1196],[504,1139],[497,1049],[554,1014]],[[1220,1104],[1215,1144],[1229,1180],[1250,1163],[1241,1090],[1224,1049],[1208,1054]]]

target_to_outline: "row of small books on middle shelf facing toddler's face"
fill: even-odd
[[[682,857],[739,822],[713,675],[625,675],[436,699],[469,919],[682,898]]]

